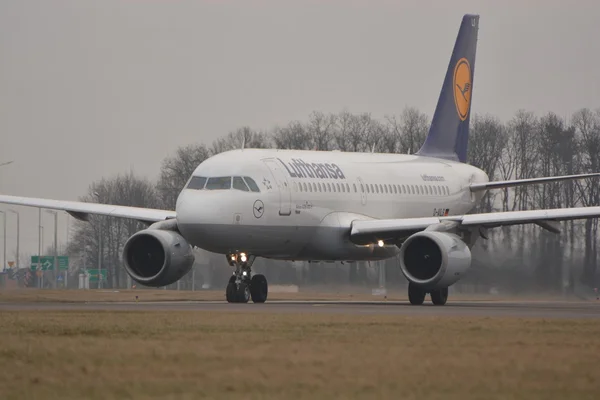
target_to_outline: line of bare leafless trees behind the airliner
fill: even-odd
[[[519,110],[509,121],[474,114],[470,123],[468,162],[484,170],[490,180],[600,171],[600,110],[581,109],[568,119],[552,112],[538,116]],[[424,142],[429,124],[427,114],[411,107],[382,120],[370,113],[315,111],[306,121],[291,121],[264,131],[242,127],[210,145],[182,146],[162,161],[156,182],[132,172],[102,178],[90,185],[81,200],[174,209],[177,196],[194,169],[212,155],[242,146],[413,154]],[[506,188],[488,193],[475,212],[594,206],[598,205],[599,196],[597,179]],[[79,260],[79,265],[85,261],[86,265],[95,266],[101,257],[102,265],[108,269],[108,285],[120,287],[125,279],[121,267],[123,245],[143,226],[101,216],[93,216],[90,222],[76,223],[68,252]],[[596,284],[598,221],[562,222],[561,227],[560,235],[535,225],[490,230],[489,239],[481,240],[474,249],[471,279],[485,280],[488,276],[493,277],[488,280],[508,284],[511,277],[518,276],[536,287],[571,291],[576,284]],[[227,276],[229,271],[221,257],[214,260],[222,264],[219,268]],[[309,266],[300,278],[293,273],[283,276],[284,280],[312,283],[369,280],[368,265],[359,263],[348,268],[336,274]],[[396,260],[386,263],[386,270],[388,281],[402,281]]]

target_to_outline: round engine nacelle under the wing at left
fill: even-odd
[[[131,236],[123,249],[127,273],[146,286],[177,282],[194,264],[190,244],[175,231],[144,229]]]

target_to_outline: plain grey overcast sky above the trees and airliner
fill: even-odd
[[[75,200],[313,110],[431,115],[465,13],[481,15],[472,112],[600,107],[597,0],[0,0],[0,192]],[[18,210],[36,252],[37,210]],[[14,215],[8,231],[11,260]]]

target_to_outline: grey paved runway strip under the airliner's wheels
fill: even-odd
[[[222,301],[107,302],[107,303],[0,303],[6,310],[77,311],[213,311],[256,313],[335,313],[406,316],[487,316],[539,318],[600,318],[600,301],[498,302],[457,301],[445,306],[411,306],[407,302],[271,301],[265,304],[228,304]]]

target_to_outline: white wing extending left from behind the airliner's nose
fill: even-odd
[[[62,210],[68,212],[73,217],[84,221],[89,218],[90,214],[105,215],[108,217],[130,218],[145,223],[163,221],[165,219],[175,218],[176,216],[175,211],[168,210],[84,203],[81,201],[38,199],[34,197],[0,195],[0,203]]]

